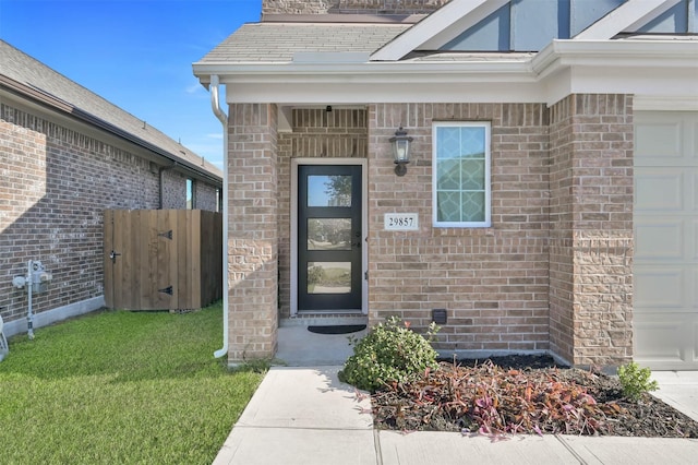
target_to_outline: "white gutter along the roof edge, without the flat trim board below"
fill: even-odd
[[[478,61],[366,61],[366,62],[197,62],[194,74],[207,85],[210,75],[222,83],[246,78],[264,82],[395,82],[418,76],[424,82],[488,80],[495,82],[529,81],[549,75],[559,68],[643,67],[698,69],[698,40],[553,40],[530,59],[493,59]]]

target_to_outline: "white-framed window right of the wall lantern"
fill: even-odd
[[[492,226],[490,129],[489,122],[433,124],[435,227]]]

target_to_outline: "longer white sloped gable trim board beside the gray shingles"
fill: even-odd
[[[373,61],[397,61],[407,53],[417,50],[425,43],[436,39],[436,43],[446,44],[450,38],[462,33],[465,28],[476,25],[481,19],[495,12],[509,0],[453,0],[436,10],[395,39],[383,46],[371,56]],[[468,15],[476,12],[477,21],[469,21]],[[472,24],[470,24],[472,22]],[[457,26],[457,27],[456,27]],[[465,27],[465,28],[464,28]],[[449,32],[448,32],[449,31]],[[444,33],[444,35],[442,35]]]

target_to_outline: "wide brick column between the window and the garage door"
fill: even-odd
[[[551,111],[551,349],[633,357],[633,99],[571,95]]]

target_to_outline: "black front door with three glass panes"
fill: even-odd
[[[361,310],[361,166],[298,170],[298,309]]]

